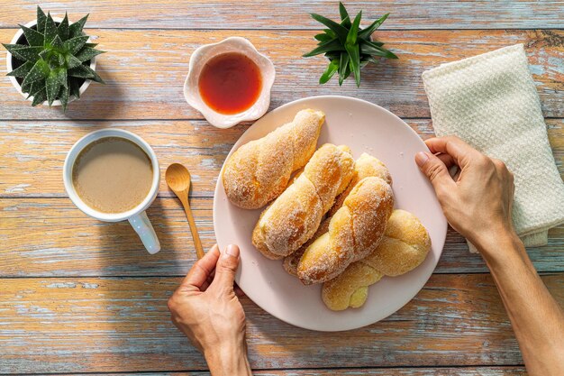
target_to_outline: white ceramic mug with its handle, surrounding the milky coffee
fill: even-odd
[[[80,151],[92,142],[105,137],[121,137],[135,143],[149,156],[153,169],[153,181],[147,197],[141,201],[141,204],[123,213],[102,213],[90,206],[87,206],[86,203],[77,195],[75,186],[72,183],[72,169]],[[145,210],[147,210],[150,204],[152,204],[159,193],[159,160],[157,160],[157,155],[155,154],[155,151],[150,148],[149,143],[145,142],[141,137],[134,133],[114,128],[102,129],[86,134],[86,136],[78,140],[77,143],[70,148],[70,151],[68,151],[67,158],[65,159],[65,165],[63,167],[63,180],[65,182],[65,189],[67,190],[68,197],[70,197],[72,202],[86,215],[92,216],[104,222],[119,222],[127,219],[133,226],[133,229],[135,229],[135,232],[139,234],[141,242],[145,245],[147,251],[151,254],[160,251],[159,238],[157,237],[157,234],[155,234],[155,230],[153,229],[153,226],[150,225],[149,218],[145,213]]]

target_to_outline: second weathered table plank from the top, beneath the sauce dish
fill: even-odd
[[[68,113],[38,107],[31,110],[7,79],[0,80],[1,119],[194,119],[202,116],[186,105],[182,87],[190,53],[197,46],[240,35],[268,54],[277,68],[270,108],[305,96],[339,94],[382,105],[402,117],[429,117],[421,74],[441,63],[460,60],[515,43],[524,43],[532,77],[545,116],[564,117],[564,31],[387,31],[378,38],[389,43],[399,60],[382,61],[352,81],[324,86],[322,57],[303,59],[315,45],[314,31],[182,31],[89,30],[100,49],[97,70],[107,85],[91,85]],[[14,30],[0,30],[10,41]],[[0,54],[5,67],[5,54]],[[2,71],[0,71],[0,74]]]

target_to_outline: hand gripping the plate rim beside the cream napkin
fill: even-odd
[[[431,152],[418,152],[415,161],[431,180],[450,225],[479,251],[500,234],[513,236],[514,177],[505,163],[455,136],[425,143]],[[459,173],[451,178],[448,169],[453,165]]]

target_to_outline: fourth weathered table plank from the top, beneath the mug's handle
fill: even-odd
[[[192,199],[206,250],[215,243],[212,203],[211,197]],[[129,224],[98,222],[68,198],[0,199],[0,277],[185,275],[196,252],[180,203],[158,198],[148,215],[162,245],[152,256]],[[564,271],[562,250],[564,225],[550,229],[548,245],[528,251],[539,271],[553,272]],[[435,272],[484,271],[482,259],[450,229]]]

